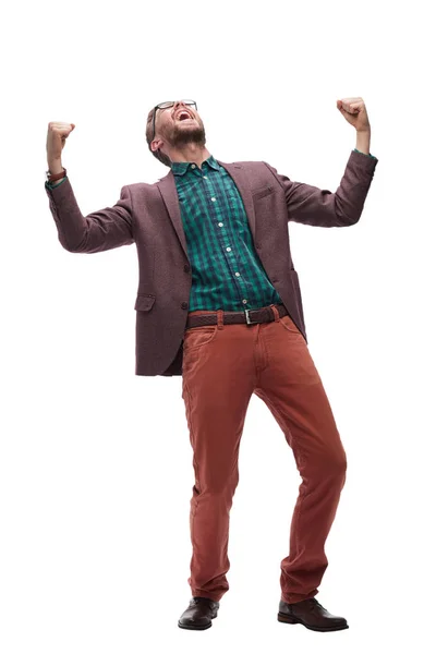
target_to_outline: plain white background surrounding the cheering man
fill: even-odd
[[[303,5],[304,4],[304,5]],[[22,3],[2,10],[0,650],[427,652],[435,585],[435,51],[414,2]],[[50,121],[84,215],[168,172],[159,101],[193,98],[222,161],[336,191],[362,96],[378,157],[349,229],[290,223],[308,347],[348,455],[317,598],[323,634],[277,621],[300,476],[255,396],[213,628],[191,593],[192,450],[181,377],[134,374],[135,246],[62,249],[45,191]],[[183,271],[181,272],[183,275]]]

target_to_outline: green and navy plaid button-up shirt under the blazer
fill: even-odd
[[[171,170],[192,268],[189,311],[281,304],[253,246],[241,195],[227,170],[211,155],[202,169],[172,161]],[[53,189],[63,181],[46,183]]]

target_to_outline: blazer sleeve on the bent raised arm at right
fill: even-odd
[[[335,193],[311,184],[293,182],[265,164],[284,191],[288,221],[313,227],[348,227],[362,215],[377,166],[377,157],[352,150]]]

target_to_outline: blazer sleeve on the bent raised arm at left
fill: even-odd
[[[92,254],[134,243],[128,186],[122,186],[120,199],[112,207],[87,216],[82,215],[68,177],[55,187],[46,182],[45,187],[59,241],[69,252]]]

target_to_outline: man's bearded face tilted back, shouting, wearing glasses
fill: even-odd
[[[180,147],[186,143],[206,143],[205,128],[198,112],[193,105],[184,105],[181,100],[168,109],[156,109],[155,131],[153,143],[161,140],[170,147]]]

